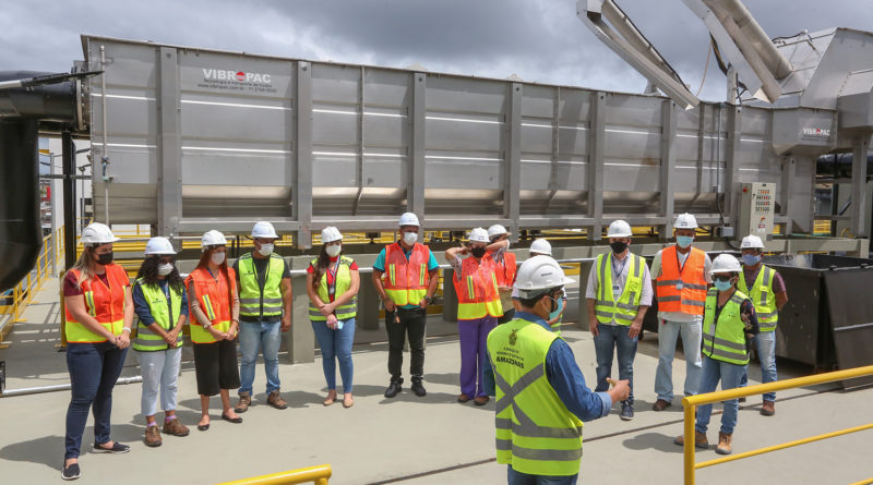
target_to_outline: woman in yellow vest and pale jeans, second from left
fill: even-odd
[[[142,412],[145,445],[160,446],[157,414],[158,391],[164,410],[164,433],[188,436],[188,427],[176,416],[179,366],[182,362],[182,325],[188,319],[184,281],[174,262],[176,251],[166,238],[145,244],[145,259],[133,283],[133,306],[139,317],[133,350],[143,376]]]

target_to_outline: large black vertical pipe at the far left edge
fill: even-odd
[[[43,246],[37,124],[0,118],[0,291],[33,269]]]

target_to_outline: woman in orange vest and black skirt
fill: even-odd
[[[188,304],[191,315],[191,342],[200,393],[201,417],[198,429],[210,428],[210,397],[222,395],[222,419],[242,423],[230,405],[230,389],[239,388],[237,334],[239,293],[234,268],[227,266],[227,240],[216,230],[203,234],[203,254],[188,275]]]

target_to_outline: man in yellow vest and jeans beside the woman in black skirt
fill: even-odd
[[[273,225],[260,221],[252,228],[254,251],[234,263],[239,288],[239,402],[234,409],[244,413],[252,403],[258,349],[264,355],[266,402],[276,409],[288,403],[279,393],[279,345],[282,332],[291,328],[291,272],[288,263],[273,252],[278,239]]]

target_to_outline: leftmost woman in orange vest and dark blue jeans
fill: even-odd
[[[88,411],[94,411],[95,453],[127,453],[130,447],[109,438],[112,388],[130,345],[133,300],[124,269],[112,264],[108,227],[92,223],[82,231],[85,251],[63,278],[67,313],[67,368],[72,398],[67,408],[63,480],[81,476],[80,447]]]

